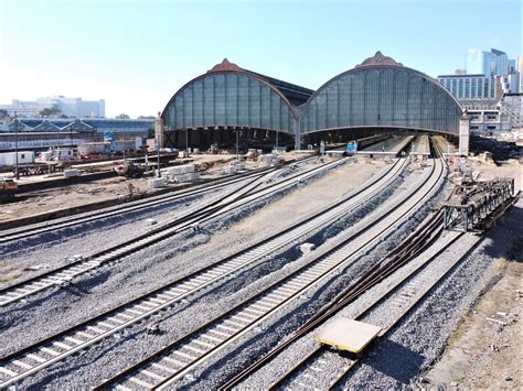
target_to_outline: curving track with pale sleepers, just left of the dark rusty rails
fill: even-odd
[[[231,343],[249,333],[256,325],[298,300],[313,286],[325,282],[332,273],[352,264],[359,256],[391,233],[397,224],[438,186],[445,173],[440,160],[435,160],[429,178],[410,189],[398,204],[366,221],[345,242],[318,254],[288,276],[262,292],[247,297],[242,304],[218,315],[192,333],[158,352],[108,379],[96,389],[163,389],[198,368]],[[363,235],[365,233],[365,235]]]

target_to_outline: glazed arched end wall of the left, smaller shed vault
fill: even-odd
[[[247,72],[210,72],[180,88],[162,118],[170,130],[247,127],[295,133],[296,113],[274,86]]]

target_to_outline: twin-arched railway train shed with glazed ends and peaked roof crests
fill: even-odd
[[[457,137],[461,116],[457,99],[437,80],[381,52],[316,91],[225,58],[173,95],[157,138],[166,146],[207,148],[242,131],[247,140],[279,138],[299,149],[402,130]]]

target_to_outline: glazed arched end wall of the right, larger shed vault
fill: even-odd
[[[301,133],[357,127],[458,133],[462,109],[431,77],[397,65],[360,66],[327,82],[307,101]]]

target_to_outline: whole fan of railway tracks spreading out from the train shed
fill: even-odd
[[[290,333],[288,328],[281,332],[282,340],[268,344],[247,363],[242,361],[243,368],[221,372],[225,374],[218,377],[213,387],[327,389],[344,385],[365,354],[380,345],[387,333],[465,262],[482,240],[478,233],[480,227],[482,231],[492,226],[519,197],[510,181],[448,186],[449,169],[438,146],[440,143],[428,135],[409,135],[382,143],[375,145],[375,150],[363,151],[357,159],[366,159],[366,154],[382,155],[387,163],[340,199],[227,256],[188,272],[163,275],[160,284],[140,291],[132,298],[122,297],[117,305],[103,306],[78,322],[55,327],[56,332],[44,330],[38,338],[6,347],[0,358],[0,388],[41,387],[50,376],[57,377],[54,385],[60,384],[62,376],[71,377],[74,371],[67,358],[104,349],[104,346],[110,349],[111,341],[122,336],[126,346],[132,346],[132,335],[143,330],[141,338],[151,343],[162,333],[167,337],[154,345],[158,348],[153,351],[115,363],[118,369],[113,369],[110,376],[100,369],[103,374],[84,385],[97,390],[191,387],[200,377],[212,378],[214,370],[220,372],[221,362],[231,360],[238,345],[263,340],[267,328],[273,335],[279,333],[287,327],[279,321],[292,316],[297,318],[291,322],[295,327],[290,327]],[[414,167],[413,155],[423,164]],[[244,218],[253,210],[263,210],[275,199],[291,196],[297,188],[313,186],[321,177],[350,166],[355,159],[339,155],[320,163],[318,158],[308,158],[290,166],[266,167],[120,207],[1,232],[0,246],[8,251],[20,243],[31,247],[46,235],[66,236],[72,227],[85,225],[88,230],[93,221],[110,221],[189,197],[201,198],[194,206],[164,218],[146,232],[137,232],[131,239],[83,253],[21,281],[4,283],[0,289],[0,311],[8,316],[30,308],[33,315],[45,316],[40,314],[43,311],[40,308],[52,307],[58,293],[63,294],[67,286],[85,279],[94,281],[96,275],[109,273],[117,265],[132,268],[131,260],[136,259],[132,257],[143,256],[153,248],[164,249],[173,238],[212,232],[218,221],[231,225],[238,216]],[[345,221],[351,224],[343,227]],[[467,246],[461,245],[463,238]],[[395,246],[387,247],[391,240]],[[314,245],[300,247],[303,243]],[[383,248],[386,251],[377,251]],[[460,251],[456,252],[456,248]],[[457,256],[441,257],[452,252]],[[373,261],[365,261],[369,258]],[[282,261],[269,262],[277,259]],[[264,268],[270,280],[264,280],[258,286],[253,280],[256,275],[263,279],[264,275],[256,273]],[[253,271],[255,276],[249,280]],[[351,275],[348,282],[337,284],[345,273]],[[128,283],[121,281],[124,285]],[[256,286],[249,290],[249,284]],[[242,292],[242,297],[217,306],[205,322],[199,322],[182,334],[160,327],[170,318],[183,319],[184,311],[191,305],[200,305],[206,296],[212,301],[216,292],[220,294],[226,287],[231,294]],[[321,293],[331,287],[333,291],[325,294],[328,298],[320,301]],[[307,309],[308,305],[312,309]],[[300,312],[309,315],[300,315]],[[376,316],[380,313],[388,314],[386,321]],[[361,355],[311,343],[325,324],[342,316],[382,329]],[[141,332],[137,332],[139,329]],[[307,354],[296,350],[299,345],[309,346]],[[292,349],[296,351],[293,361],[286,359],[284,366],[281,357]],[[284,370],[276,373],[275,368]],[[270,380],[260,382],[268,372],[273,373]]]

